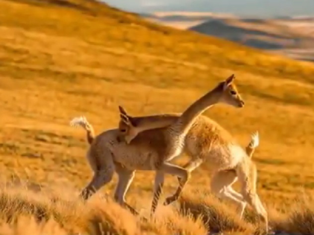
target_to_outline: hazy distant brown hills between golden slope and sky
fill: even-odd
[[[148,20],[314,62],[314,16],[245,18],[210,12],[156,12]]]

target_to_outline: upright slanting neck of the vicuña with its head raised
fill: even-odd
[[[191,126],[198,116],[200,116],[203,112],[212,107],[214,104],[218,103],[218,89],[219,87],[215,88],[214,90],[210,91],[209,93],[195,101],[189,108],[187,108],[182,113],[182,115],[171,127],[175,126],[175,128],[177,128],[180,133],[186,134],[190,130]]]

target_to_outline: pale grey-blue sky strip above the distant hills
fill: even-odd
[[[211,11],[250,16],[314,16],[314,0],[103,0],[118,8],[153,11]]]

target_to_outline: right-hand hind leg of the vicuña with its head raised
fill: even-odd
[[[116,173],[118,174],[119,179],[118,179],[118,184],[114,193],[114,199],[121,206],[128,208],[131,211],[131,213],[133,213],[134,215],[138,215],[139,213],[125,201],[125,194],[127,193],[133,181],[133,178],[135,176],[135,171],[125,169],[119,164],[115,164],[115,167],[116,167]]]

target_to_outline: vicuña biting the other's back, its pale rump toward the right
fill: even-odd
[[[160,128],[163,125],[168,126],[179,117],[179,114],[131,117],[122,107],[120,107],[121,111],[129,120],[129,122],[125,122],[121,119],[119,122],[121,138],[124,138],[127,143],[141,131],[149,128]],[[151,120],[152,124],[150,123]],[[203,162],[209,162],[209,167],[213,172],[211,183],[213,192],[239,204],[242,208],[240,216],[243,215],[246,202],[248,202],[264,219],[266,229],[268,229],[267,212],[256,193],[256,166],[250,160],[258,144],[258,133],[255,132],[245,148],[245,154],[226,129],[208,117],[199,116],[185,137],[184,151],[190,156],[190,161],[185,168],[193,171]],[[239,156],[242,155],[246,155],[246,157],[239,159]],[[235,192],[231,187],[238,179],[237,174],[242,185],[241,194]],[[180,190],[178,188],[174,195],[168,197],[165,204],[176,200]]]

